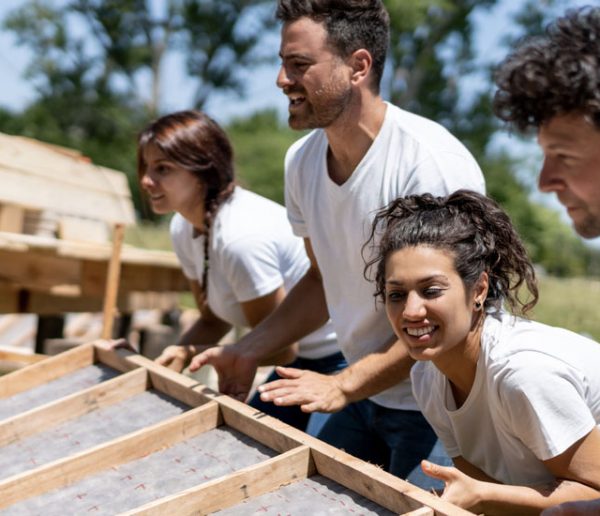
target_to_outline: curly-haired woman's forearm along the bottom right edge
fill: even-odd
[[[476,509],[486,515],[540,514],[548,507],[573,500],[593,500],[600,492],[584,484],[559,480],[544,486],[482,483]]]

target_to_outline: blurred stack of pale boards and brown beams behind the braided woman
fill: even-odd
[[[102,310],[112,229],[135,222],[125,174],[0,133],[0,181],[0,313]],[[121,311],[188,289],[173,253],[125,246],[121,264]]]

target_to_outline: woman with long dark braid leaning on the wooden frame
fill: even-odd
[[[179,343],[157,358],[181,371],[233,325],[254,327],[269,315],[304,275],[308,258],[285,209],[235,184],[231,144],[204,113],[181,111],[146,127],[138,142],[138,177],[155,213],[175,212],[173,246],[201,312]],[[291,367],[329,374],[345,366],[331,323],[303,338],[297,353]],[[292,357],[290,350],[269,361]],[[273,373],[269,381],[277,378]],[[258,396],[251,404],[303,430],[310,417]]]

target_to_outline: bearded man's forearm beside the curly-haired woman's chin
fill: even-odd
[[[408,378],[414,361],[395,337],[382,350],[371,353],[337,375],[348,402],[382,392]]]

